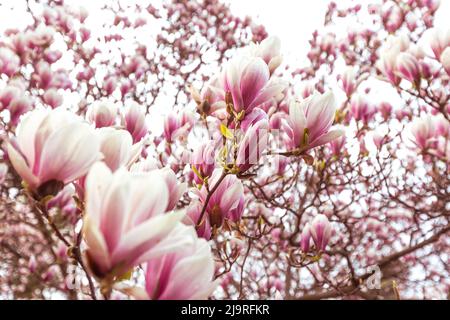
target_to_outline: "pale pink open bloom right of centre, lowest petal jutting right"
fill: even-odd
[[[302,102],[291,102],[287,133],[293,148],[308,150],[328,143],[343,134],[330,130],[336,112],[334,95],[313,94]]]

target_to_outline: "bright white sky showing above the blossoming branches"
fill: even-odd
[[[307,53],[308,39],[312,31],[323,24],[328,0],[224,0],[229,3],[235,15],[251,16],[266,26],[269,34],[280,37],[282,50],[289,61],[303,58]],[[379,0],[372,0],[378,2]],[[85,7],[90,15],[98,17],[105,0],[66,0],[74,6]],[[136,0],[122,0],[121,3],[136,3]],[[364,0],[339,0],[338,3],[358,3]],[[25,1],[0,0],[0,31],[24,23]],[[1,6],[14,8],[11,14],[4,14]],[[450,0],[441,0],[436,25],[448,28]],[[102,19],[98,19],[99,23]],[[294,59],[294,60],[291,60]]]

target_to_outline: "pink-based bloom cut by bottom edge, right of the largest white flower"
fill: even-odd
[[[145,271],[145,289],[153,300],[207,299],[216,287],[214,258],[205,239],[193,227],[179,225],[173,233],[190,239],[189,246],[150,259]]]

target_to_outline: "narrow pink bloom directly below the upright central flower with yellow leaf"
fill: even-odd
[[[250,124],[239,144],[236,165],[240,173],[250,169],[257,164],[262,153],[267,148],[269,133],[269,121],[267,115],[262,119]]]

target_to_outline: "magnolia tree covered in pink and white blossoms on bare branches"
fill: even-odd
[[[2,298],[447,297],[438,1],[331,2],[306,67],[217,0],[17,6]]]

